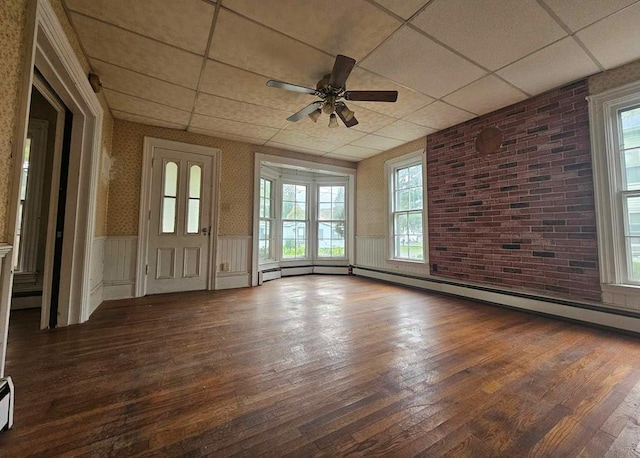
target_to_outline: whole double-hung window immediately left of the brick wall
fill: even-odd
[[[424,153],[388,161],[389,257],[424,263],[426,246]]]

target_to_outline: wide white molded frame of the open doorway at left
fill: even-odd
[[[20,191],[20,169],[29,122],[31,87],[37,67],[53,91],[73,113],[71,166],[66,208],[65,240],[61,269],[58,325],[81,323],[89,318],[91,251],[95,202],[102,143],[103,110],[49,0],[29,0],[25,21],[22,80],[13,142],[13,175],[7,238],[15,242]],[[0,332],[4,373],[13,268],[5,257],[0,286]],[[8,265],[7,265],[8,264]],[[1,374],[0,374],[1,375]]]

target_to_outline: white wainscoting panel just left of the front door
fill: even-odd
[[[105,300],[133,297],[138,237],[107,237],[104,242],[103,296]]]

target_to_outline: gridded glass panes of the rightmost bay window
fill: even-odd
[[[344,258],[346,186],[318,186],[318,258]]]

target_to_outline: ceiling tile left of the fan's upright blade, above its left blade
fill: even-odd
[[[334,59],[293,38],[221,10],[209,57],[273,79],[315,87]]]

